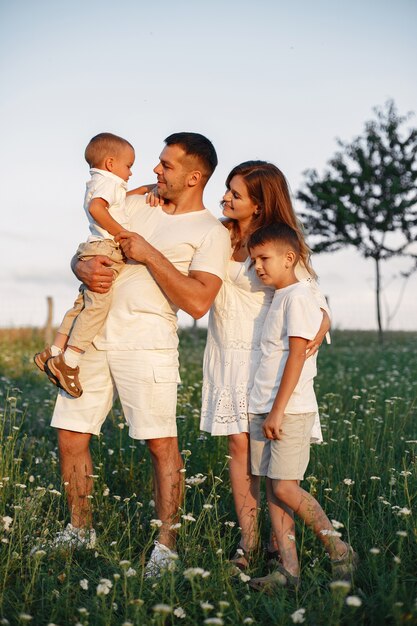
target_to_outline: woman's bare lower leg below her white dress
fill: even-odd
[[[232,457],[229,461],[230,483],[236,515],[242,529],[239,547],[250,552],[258,544],[260,477],[251,472],[249,434],[229,435],[228,444],[229,455]]]

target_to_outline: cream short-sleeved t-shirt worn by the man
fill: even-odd
[[[196,270],[223,280],[231,254],[229,231],[209,211],[169,215],[139,195],[126,199],[126,210],[131,230],[182,274]],[[110,311],[94,345],[99,350],[176,348],[177,311],[147,267],[128,261],[114,283]]]

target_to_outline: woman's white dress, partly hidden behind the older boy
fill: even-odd
[[[307,270],[296,267],[301,282],[308,282],[322,309],[325,298]],[[258,278],[251,259],[230,260],[223,285],[210,310],[204,351],[200,428],[212,435],[249,431],[248,400],[261,359],[263,323],[274,290]],[[312,440],[322,440],[316,419]]]

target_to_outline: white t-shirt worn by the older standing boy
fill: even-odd
[[[277,289],[262,332],[260,366],[249,400],[249,413],[269,413],[281,383],[288,358],[289,337],[313,339],[323,314],[311,289],[295,283]],[[313,379],[317,373],[317,355],[304,363],[297,386],[286,406],[286,413],[315,413],[318,410]]]

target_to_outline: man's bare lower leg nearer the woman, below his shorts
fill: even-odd
[[[148,439],[147,444],[154,472],[156,513],[162,521],[158,541],[167,548],[175,548],[176,531],[171,526],[178,521],[184,494],[184,481],[180,472],[183,462],[178,450],[178,439]]]

